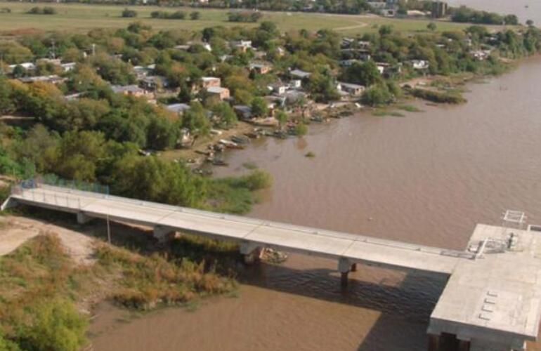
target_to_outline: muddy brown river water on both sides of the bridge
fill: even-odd
[[[470,84],[469,102],[406,117],[361,114],[228,154],[274,185],[249,214],[385,239],[464,249],[476,223],[507,208],[541,223],[541,59]],[[314,158],[304,154],[311,151]],[[445,279],[360,266],[339,289],[337,263],[290,256],[249,268],[237,298],[129,323],[100,309],[94,350],[426,350]],[[533,345],[541,350],[541,345]]]

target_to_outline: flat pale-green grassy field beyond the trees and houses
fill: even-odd
[[[26,12],[34,6],[52,6],[56,8],[55,15],[30,15]],[[193,29],[216,25],[223,26],[255,26],[253,23],[227,22],[227,10],[199,9],[200,20],[159,20],[150,18],[152,11],[183,10],[187,13],[193,8],[159,8],[156,6],[129,6],[138,12],[137,18],[122,18],[121,12],[125,6],[85,5],[85,4],[28,4],[0,2],[0,8],[10,8],[11,13],[0,13],[0,32],[4,34],[37,31],[78,31],[85,32],[91,28],[126,27],[134,20],[157,29]],[[344,34],[358,34],[377,30],[378,25],[393,25],[399,31],[425,31],[429,20],[397,20],[380,18],[372,15],[334,15],[325,13],[287,13],[266,12],[263,20],[271,20],[278,24],[283,31],[292,29],[334,29]],[[437,22],[437,30],[449,30],[466,27],[467,25]]]

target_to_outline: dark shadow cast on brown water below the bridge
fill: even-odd
[[[321,261],[323,265],[329,265],[328,260]],[[363,270],[370,271],[370,282],[365,280]],[[358,265],[358,272],[351,272],[348,286],[342,288],[339,274],[330,268],[306,269],[290,267],[288,263],[261,263],[248,267],[239,280],[242,284],[263,289],[380,312],[370,331],[360,340],[358,351],[426,350],[429,317],[447,278],[405,272],[397,284],[388,284],[386,277],[389,277],[389,270]]]

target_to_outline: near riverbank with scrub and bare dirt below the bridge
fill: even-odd
[[[68,351],[88,345],[86,325],[94,306],[102,301],[141,312],[171,305],[190,307],[236,289],[222,269],[223,262],[218,275],[218,268],[203,258],[213,253],[236,258],[232,244],[184,237],[167,250],[150,249],[153,245],[144,238],[151,237],[148,232],[117,224],[112,228],[113,246],[98,239],[104,234],[103,223],[70,228],[58,218],[53,220],[57,224],[13,216],[0,220],[3,242],[13,232],[27,239],[20,246],[5,247],[0,256],[0,346],[7,350],[25,345]],[[135,241],[123,238],[130,232],[137,232]],[[49,318],[58,323],[49,323]]]

